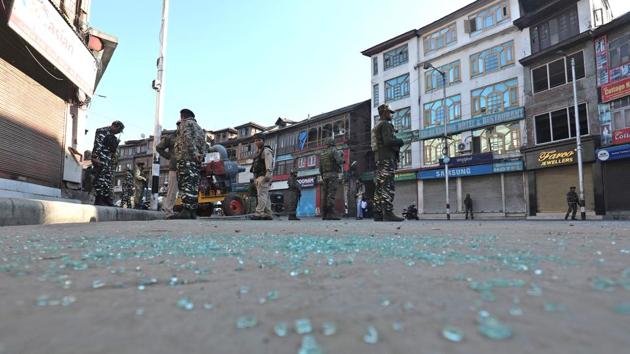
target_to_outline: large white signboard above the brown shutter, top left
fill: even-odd
[[[94,94],[96,60],[50,1],[13,1],[9,27],[85,94]]]

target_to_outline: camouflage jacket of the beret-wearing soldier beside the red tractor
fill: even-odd
[[[177,161],[201,161],[206,153],[206,137],[194,118],[182,120],[175,135]]]

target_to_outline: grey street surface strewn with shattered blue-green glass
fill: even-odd
[[[629,236],[623,222],[4,227],[0,353],[298,353],[309,335],[303,353],[627,353]]]

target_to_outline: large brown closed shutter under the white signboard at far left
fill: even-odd
[[[0,58],[0,177],[61,187],[65,102]]]

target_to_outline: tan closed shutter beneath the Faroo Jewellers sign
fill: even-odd
[[[578,185],[577,166],[563,166],[536,171],[536,199],[539,213],[560,213],[567,211],[569,187]],[[584,193],[586,209],[594,210],[592,164],[584,164]]]

